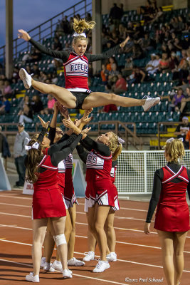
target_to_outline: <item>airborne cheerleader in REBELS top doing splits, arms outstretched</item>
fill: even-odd
[[[95,22],[86,22],[85,19],[74,19],[73,28],[73,51],[53,51],[29,36],[26,31],[19,30],[19,38],[23,38],[37,48],[41,53],[54,58],[60,58],[63,61],[65,74],[65,88],[54,84],[46,84],[33,80],[25,69],[21,68],[19,76],[23,81],[26,89],[31,86],[41,93],[53,95],[62,105],[67,108],[90,109],[109,104],[115,104],[122,107],[142,106],[144,111],[149,110],[152,106],[159,103],[160,98],[147,98],[137,100],[127,98],[113,93],[92,92],[88,88],[88,63],[92,61],[101,61],[105,58],[110,58],[113,54],[120,53],[120,48],[123,48],[129,38],[119,45],[111,48],[105,53],[92,55],[85,53],[88,46],[88,38],[83,32],[85,29],[92,29]]]

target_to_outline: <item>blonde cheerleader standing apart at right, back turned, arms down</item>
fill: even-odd
[[[149,202],[144,233],[150,234],[155,208],[154,228],[162,246],[162,262],[167,285],[178,285],[184,269],[184,244],[189,230],[190,171],[179,165],[185,155],[181,140],[167,140],[164,156],[168,162],[154,173],[152,197]]]

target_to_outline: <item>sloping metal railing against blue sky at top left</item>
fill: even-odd
[[[64,16],[73,17],[75,14],[80,14],[81,18],[84,18],[88,13],[92,11],[92,0],[81,0],[77,4],[65,9],[56,16],[47,21],[43,22],[41,25],[32,28],[28,33],[36,41],[43,41],[44,38],[52,37],[58,20],[64,19]],[[24,27],[23,27],[24,28]],[[19,38],[14,38],[13,40],[13,55],[14,58],[19,56],[19,53],[29,50],[30,44]],[[3,64],[5,64],[6,57],[6,46],[0,47],[0,58],[3,58]]]

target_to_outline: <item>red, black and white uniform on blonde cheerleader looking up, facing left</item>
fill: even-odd
[[[112,153],[107,145],[95,142],[88,136],[80,142],[90,152],[85,154],[81,146],[77,146],[80,158],[85,161],[86,181],[88,184],[86,198],[89,196],[88,207],[96,202],[100,205],[115,207],[115,188],[112,185],[110,172],[112,168]],[[84,158],[86,157],[86,158]]]

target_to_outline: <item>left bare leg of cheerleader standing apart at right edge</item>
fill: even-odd
[[[159,241],[162,247],[162,263],[164,274],[167,279],[167,285],[176,285],[174,283],[174,232],[164,232],[157,229]]]

